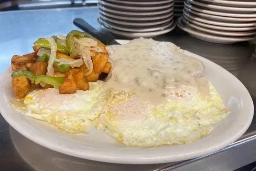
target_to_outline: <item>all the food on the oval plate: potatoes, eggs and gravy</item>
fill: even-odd
[[[104,46],[71,31],[34,45],[33,54],[13,56],[12,85],[22,104],[13,107],[62,131],[94,125],[124,145],[185,144],[229,114],[202,61],[170,42]]]

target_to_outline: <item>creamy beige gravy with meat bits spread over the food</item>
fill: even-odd
[[[106,88],[130,90],[152,105],[164,104],[173,92],[192,90],[209,96],[202,61],[184,55],[172,43],[140,38],[125,45],[108,46],[108,52],[113,70]]]

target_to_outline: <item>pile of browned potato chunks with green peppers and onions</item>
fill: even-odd
[[[40,38],[34,42],[34,53],[14,55],[11,64],[13,91],[18,99],[30,90],[57,88],[61,94],[89,90],[88,82],[109,73],[111,62],[105,46],[90,35],[73,30],[66,36]],[[25,79],[27,78],[27,79]],[[28,85],[22,85],[26,82]]]

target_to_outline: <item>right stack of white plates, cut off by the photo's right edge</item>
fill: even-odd
[[[186,0],[176,21],[185,32],[213,43],[254,39],[256,0]]]

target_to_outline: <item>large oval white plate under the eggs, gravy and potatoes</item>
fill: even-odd
[[[125,44],[128,41],[118,40]],[[230,114],[214,125],[207,136],[184,145],[163,145],[151,148],[125,146],[107,134],[91,128],[88,134],[67,134],[44,122],[14,110],[11,68],[0,76],[0,113],[18,132],[35,143],[67,155],[90,160],[121,164],[155,164],[186,160],[218,151],[240,138],[248,129],[254,113],[249,92],[244,85],[221,66],[188,51],[184,54],[202,60],[204,76],[221,94]]]

